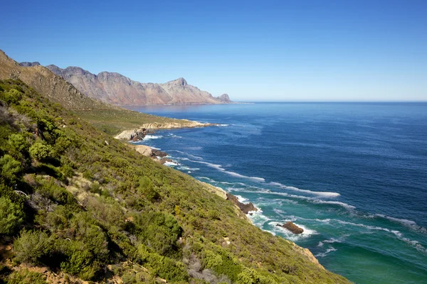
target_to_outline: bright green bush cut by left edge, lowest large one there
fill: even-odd
[[[0,197],[0,234],[12,234],[23,221],[22,206],[11,202],[9,198]]]

